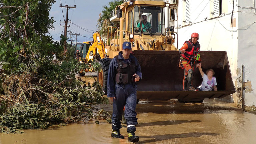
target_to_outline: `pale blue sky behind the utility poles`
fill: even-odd
[[[62,3],[62,6],[68,5],[68,6],[74,6],[76,5],[76,8],[70,8],[68,10],[68,19],[71,20],[72,23],[88,29],[87,31],[77,27],[76,25],[72,23],[68,23],[70,27],[68,27],[68,31],[72,31],[73,34],[80,33],[82,36],[77,36],[77,43],[82,43],[83,41],[91,41],[92,33],[97,30],[97,20],[99,18],[99,14],[102,11],[102,8],[104,5],[107,5],[111,0],[55,0],[56,3],[52,5],[52,9],[50,10],[50,17],[54,17],[53,19],[56,21],[54,23],[54,30],[49,30],[50,36],[53,37],[53,40],[58,41],[60,40],[60,35],[64,35],[64,27],[61,27],[61,25],[64,25],[65,23],[60,23],[61,21],[64,21],[64,18],[66,18],[66,8],[62,10],[60,8],[60,3]],[[71,35],[73,39],[75,39],[75,35]],[[67,37],[69,36],[69,33],[67,33]],[[70,38],[69,38],[70,40]],[[68,43],[71,43],[68,41]],[[73,42],[74,44],[75,42]]]

